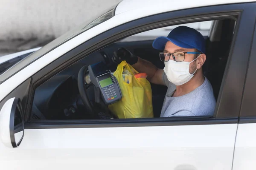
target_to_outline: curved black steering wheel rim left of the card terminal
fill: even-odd
[[[84,103],[85,107],[87,108],[87,111],[91,115],[93,115],[94,114],[93,106],[90,102],[90,99],[87,96],[87,93],[86,93],[87,89],[86,89],[85,84],[84,84],[84,76],[85,76],[85,73],[88,69],[88,66],[89,65],[84,65],[79,70],[78,77],[77,77],[77,83],[78,83],[78,90],[79,90],[79,94],[81,96],[82,102]]]

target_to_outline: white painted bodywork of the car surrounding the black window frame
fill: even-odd
[[[248,2],[255,0],[124,0],[109,20],[49,50],[5,79],[0,84],[0,101],[68,51],[122,24],[164,12]],[[5,108],[0,114],[9,112],[7,105]],[[238,122],[199,125],[166,122],[137,127],[28,128],[19,147],[6,147],[5,142],[0,142],[0,169],[253,170],[256,168],[255,126],[256,123]],[[4,130],[2,126],[0,138],[9,141]]]

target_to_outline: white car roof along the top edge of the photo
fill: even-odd
[[[123,0],[116,7],[115,14],[138,9],[141,9],[141,12],[152,11],[152,14],[157,14],[158,11],[166,12],[177,10],[177,8],[185,9],[246,2],[256,2],[256,0]],[[161,8],[161,10],[157,10],[157,8]]]

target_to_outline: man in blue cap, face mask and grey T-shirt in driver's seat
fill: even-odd
[[[151,83],[168,87],[160,117],[213,115],[215,98],[202,66],[206,60],[205,40],[193,28],[179,26],[167,37],[153,42],[164,62],[163,69],[135,56],[125,48],[114,52],[113,61],[126,60],[139,72],[145,72]]]

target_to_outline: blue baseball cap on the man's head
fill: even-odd
[[[171,41],[181,48],[196,48],[205,53],[205,40],[203,35],[193,28],[179,26],[174,28],[167,37],[158,37],[153,42],[153,48],[164,50],[166,42]]]

